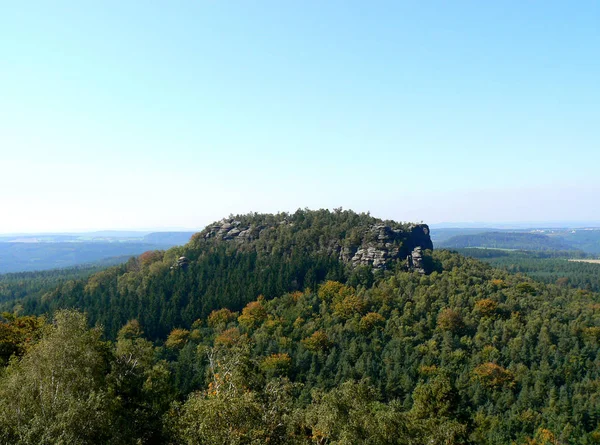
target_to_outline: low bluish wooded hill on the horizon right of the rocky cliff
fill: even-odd
[[[484,232],[457,235],[440,243],[440,247],[464,249],[481,247],[514,250],[577,250],[572,244],[558,237],[541,233]]]

